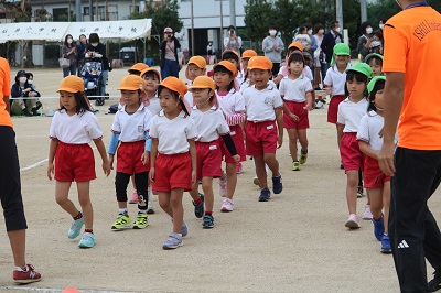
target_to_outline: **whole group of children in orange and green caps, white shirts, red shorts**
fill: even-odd
[[[364,118],[364,124],[367,128],[380,126],[383,104],[379,96],[383,91],[379,86],[384,85],[385,78],[377,77],[368,84],[373,72],[368,65],[349,67],[348,47],[336,45],[334,53],[336,63],[326,74],[324,86],[332,94],[329,121],[337,124],[342,163],[347,174],[346,197],[351,216],[346,227],[359,227],[355,211],[356,188],[366,153],[373,158],[366,159],[365,165],[369,165],[369,170],[365,172],[365,187],[372,198],[375,235],[386,242],[384,219],[387,217],[383,217],[381,208],[385,203],[386,214],[388,189],[383,188],[383,184],[379,187],[379,183],[385,182],[386,186],[388,178],[379,178],[379,173],[373,171],[374,167],[379,171],[378,164],[375,165],[376,149],[373,145],[380,143],[380,139],[370,130],[361,131],[359,138],[356,135],[368,105],[373,111]],[[376,57],[372,57],[373,64]],[[252,50],[244,52],[241,64],[236,52],[224,52],[223,61],[209,73],[206,73],[205,59],[194,56],[185,70],[191,83],[185,85],[175,77],[161,82],[157,69],[136,64],[118,88],[121,98],[111,126],[108,155],[97,119],[89,111],[83,80],[75,76],[64,78],[58,89],[62,107],[54,116],[50,131],[47,175],[52,178],[55,172],[56,202],[73,217],[68,238],[76,238],[85,225],[79,247],[95,246],[89,182],[96,175],[95,165],[89,164],[94,162],[88,146],[90,140],[101,155],[106,175],[114,169],[117,154],[115,188],[118,215],[111,229],[146,228],[148,214],[153,213],[150,196],[157,194],[159,205],[171,217],[173,227],[162,245],[164,249],[182,246],[182,238],[187,235],[183,220],[184,192],[192,197],[195,216],[203,218],[203,228],[213,228],[215,224],[214,178],[217,178],[219,195],[225,197],[220,210],[234,210],[237,173],[240,173],[239,163],[246,160],[246,155],[251,156],[255,163],[256,181],[260,186],[259,202],[268,202],[271,196],[268,173],[271,173],[272,193],[280,194],[283,184],[276,151],[282,145],[283,128],[289,135],[292,170],[299,171],[300,164],[308,159],[308,112],[315,105],[313,80],[309,77],[300,43],[289,46],[287,64],[275,82],[270,80],[271,68],[272,63],[267,57],[257,56]],[[279,84],[279,89],[276,84]],[[370,104],[365,98],[366,88],[373,97]],[[300,156],[297,141],[301,145]],[[127,187],[130,177],[136,192],[129,200]],[[82,211],[67,197],[73,181],[77,182]],[[198,191],[200,183],[203,193]],[[384,200],[378,199],[381,195]],[[133,223],[128,215],[128,203],[138,204]]]

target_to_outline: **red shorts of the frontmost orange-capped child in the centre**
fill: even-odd
[[[154,162],[154,182],[152,189],[170,193],[174,188],[192,189],[192,159],[190,152],[158,154]]]

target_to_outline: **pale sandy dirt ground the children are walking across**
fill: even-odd
[[[33,69],[44,112],[56,109],[61,69]],[[12,80],[17,69],[12,69]],[[183,72],[181,72],[182,74]],[[117,96],[127,68],[109,74],[108,91]],[[52,97],[52,98],[51,98]],[[97,107],[96,116],[109,142],[112,115],[106,115],[112,97]],[[162,242],[171,231],[168,216],[153,196],[155,214],[143,230],[111,231],[118,209],[114,177],[103,175],[95,151],[98,178],[92,183],[97,245],[78,248],[66,231],[69,216],[54,199],[54,182],[46,177],[50,117],[13,118],[17,132],[22,193],[28,217],[28,262],[43,280],[25,286],[12,282],[13,261],[4,229],[0,230],[0,292],[60,292],[75,286],[83,292],[398,292],[391,256],[379,252],[370,221],[348,230],[345,175],[340,170],[335,127],[326,122],[326,109],[310,113],[310,148],[300,172],[290,170],[288,134],[278,151],[283,192],[259,203],[252,184],[252,161],[245,162],[238,176],[235,210],[220,213],[222,198],[215,191],[215,228],[205,230],[184,196],[184,220],[189,236],[184,246],[165,251]],[[94,145],[93,145],[94,146]],[[131,194],[132,188],[128,188]],[[77,203],[76,188],[71,198]],[[358,199],[363,214],[366,197]],[[438,219],[440,192],[430,202]],[[136,205],[129,214],[136,216]],[[0,225],[4,227],[3,218]],[[432,269],[428,269],[428,274]],[[430,276],[430,275],[428,275]]]

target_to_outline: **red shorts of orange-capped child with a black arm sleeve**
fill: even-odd
[[[219,141],[196,141],[197,180],[202,177],[220,177],[222,150]]]

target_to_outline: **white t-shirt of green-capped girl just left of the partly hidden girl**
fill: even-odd
[[[369,101],[363,98],[358,102],[353,102],[346,98],[338,105],[337,123],[345,126],[343,132],[357,132],[359,121],[367,112]]]

